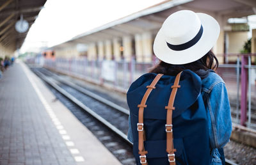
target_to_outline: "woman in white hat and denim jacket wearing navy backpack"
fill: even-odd
[[[211,51],[220,34],[205,13],[170,15],[154,40],[159,64],[127,91],[137,164],[225,164],[232,132],[227,89]]]

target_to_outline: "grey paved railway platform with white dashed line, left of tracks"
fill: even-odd
[[[22,62],[0,79],[0,164],[121,164]]]

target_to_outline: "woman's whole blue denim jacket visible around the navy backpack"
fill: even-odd
[[[213,152],[211,164],[221,164],[220,153],[216,148],[223,148],[232,132],[230,104],[225,83],[221,77],[210,72],[202,80],[202,97],[207,110],[209,142]],[[133,141],[131,132],[131,119],[129,116],[129,130],[127,138]]]

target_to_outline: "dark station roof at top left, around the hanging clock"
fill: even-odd
[[[0,0],[0,44],[14,52],[19,49],[26,38],[28,29],[44,7],[46,0]],[[28,28],[24,33],[15,29],[15,24],[20,19],[28,22]],[[26,26],[20,24],[19,26]],[[24,28],[22,28],[24,29]]]

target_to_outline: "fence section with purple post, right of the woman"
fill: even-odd
[[[232,56],[237,56],[236,64],[220,65],[217,72],[230,91],[233,122],[256,129],[256,66],[252,65],[255,54]]]

